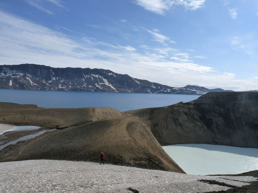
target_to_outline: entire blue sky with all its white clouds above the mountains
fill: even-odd
[[[0,64],[258,90],[257,0],[0,0]]]

